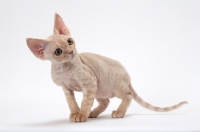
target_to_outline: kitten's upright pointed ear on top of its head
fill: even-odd
[[[67,28],[64,21],[57,13],[55,14],[54,34],[63,34],[63,35],[70,34],[69,29]]]

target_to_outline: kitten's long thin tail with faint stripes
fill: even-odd
[[[164,107],[164,108],[156,107],[156,106],[153,106],[153,105],[147,103],[147,102],[144,101],[140,96],[138,96],[138,94],[135,92],[135,90],[133,89],[132,86],[130,86],[130,89],[131,89],[132,94],[133,94],[133,99],[134,99],[138,104],[140,104],[141,106],[143,106],[144,108],[147,108],[147,109],[152,110],[152,111],[156,111],[156,112],[168,112],[168,111],[177,109],[177,108],[181,107],[181,106],[184,105],[184,104],[188,104],[187,101],[183,101],[183,102],[180,102],[180,103],[178,103],[178,104],[176,104],[176,105],[169,106],[169,107]]]

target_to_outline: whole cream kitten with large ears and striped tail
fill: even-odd
[[[132,88],[127,71],[118,61],[97,54],[77,52],[75,41],[58,14],[55,14],[54,34],[47,39],[28,38],[27,45],[36,57],[52,62],[52,80],[63,88],[71,111],[70,119],[74,122],[97,117],[107,108],[109,98],[112,97],[122,99],[117,110],[112,112],[113,118],[124,117],[132,98],[141,106],[157,112],[171,111],[187,103],[184,101],[159,108],[142,100]],[[74,91],[83,92],[80,108]],[[94,99],[99,105],[91,111]]]

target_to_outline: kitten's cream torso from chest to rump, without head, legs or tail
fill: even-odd
[[[97,82],[96,98],[112,98],[115,96],[115,89],[128,87],[130,83],[128,73],[119,62],[92,53],[76,53],[70,62],[52,64],[51,75],[55,84],[65,85],[73,91],[82,91],[80,80],[76,81],[76,78],[86,76],[87,72],[91,72],[90,76]]]

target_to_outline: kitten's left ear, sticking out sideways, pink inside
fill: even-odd
[[[26,40],[26,43],[28,45],[28,48],[36,57],[38,57],[39,59],[45,60],[44,50],[45,50],[45,47],[48,45],[47,41],[42,40],[42,39],[28,38]]]

